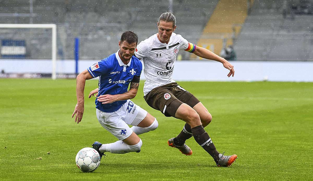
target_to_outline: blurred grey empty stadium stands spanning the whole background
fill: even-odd
[[[197,43],[219,2],[173,0],[175,33]],[[226,38],[208,32],[207,36],[223,40],[214,53],[233,44],[238,60],[313,60],[313,0],[247,2],[251,7],[247,4],[244,23],[233,23]],[[75,37],[80,38],[80,59],[105,58],[118,49],[122,32],[132,30],[139,41],[146,39],[157,32],[155,22],[160,14],[169,11],[167,0],[33,0],[33,14],[29,1],[4,0],[0,5],[0,23],[57,24],[58,59],[73,59]],[[47,59],[51,57],[49,31],[0,28],[0,39],[24,39],[27,58]],[[193,59],[184,51],[180,54],[181,59]]]

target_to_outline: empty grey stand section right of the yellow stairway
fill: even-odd
[[[255,1],[234,43],[238,59],[312,60],[313,17],[291,10],[299,3]]]

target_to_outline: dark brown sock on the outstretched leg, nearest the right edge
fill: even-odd
[[[213,157],[215,162],[218,162],[218,151],[216,150],[208,133],[205,132],[202,125],[196,126],[191,129],[192,134],[196,142]]]

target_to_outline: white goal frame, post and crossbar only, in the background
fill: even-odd
[[[52,34],[52,79],[56,79],[57,26],[56,24],[0,24],[0,28],[51,28]]]

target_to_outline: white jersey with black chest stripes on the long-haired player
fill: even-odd
[[[175,82],[172,79],[174,64],[180,49],[188,48],[188,41],[180,34],[172,33],[168,44],[161,43],[157,34],[137,45],[135,55],[143,59],[146,82],[143,93],[146,96],[153,88]]]

